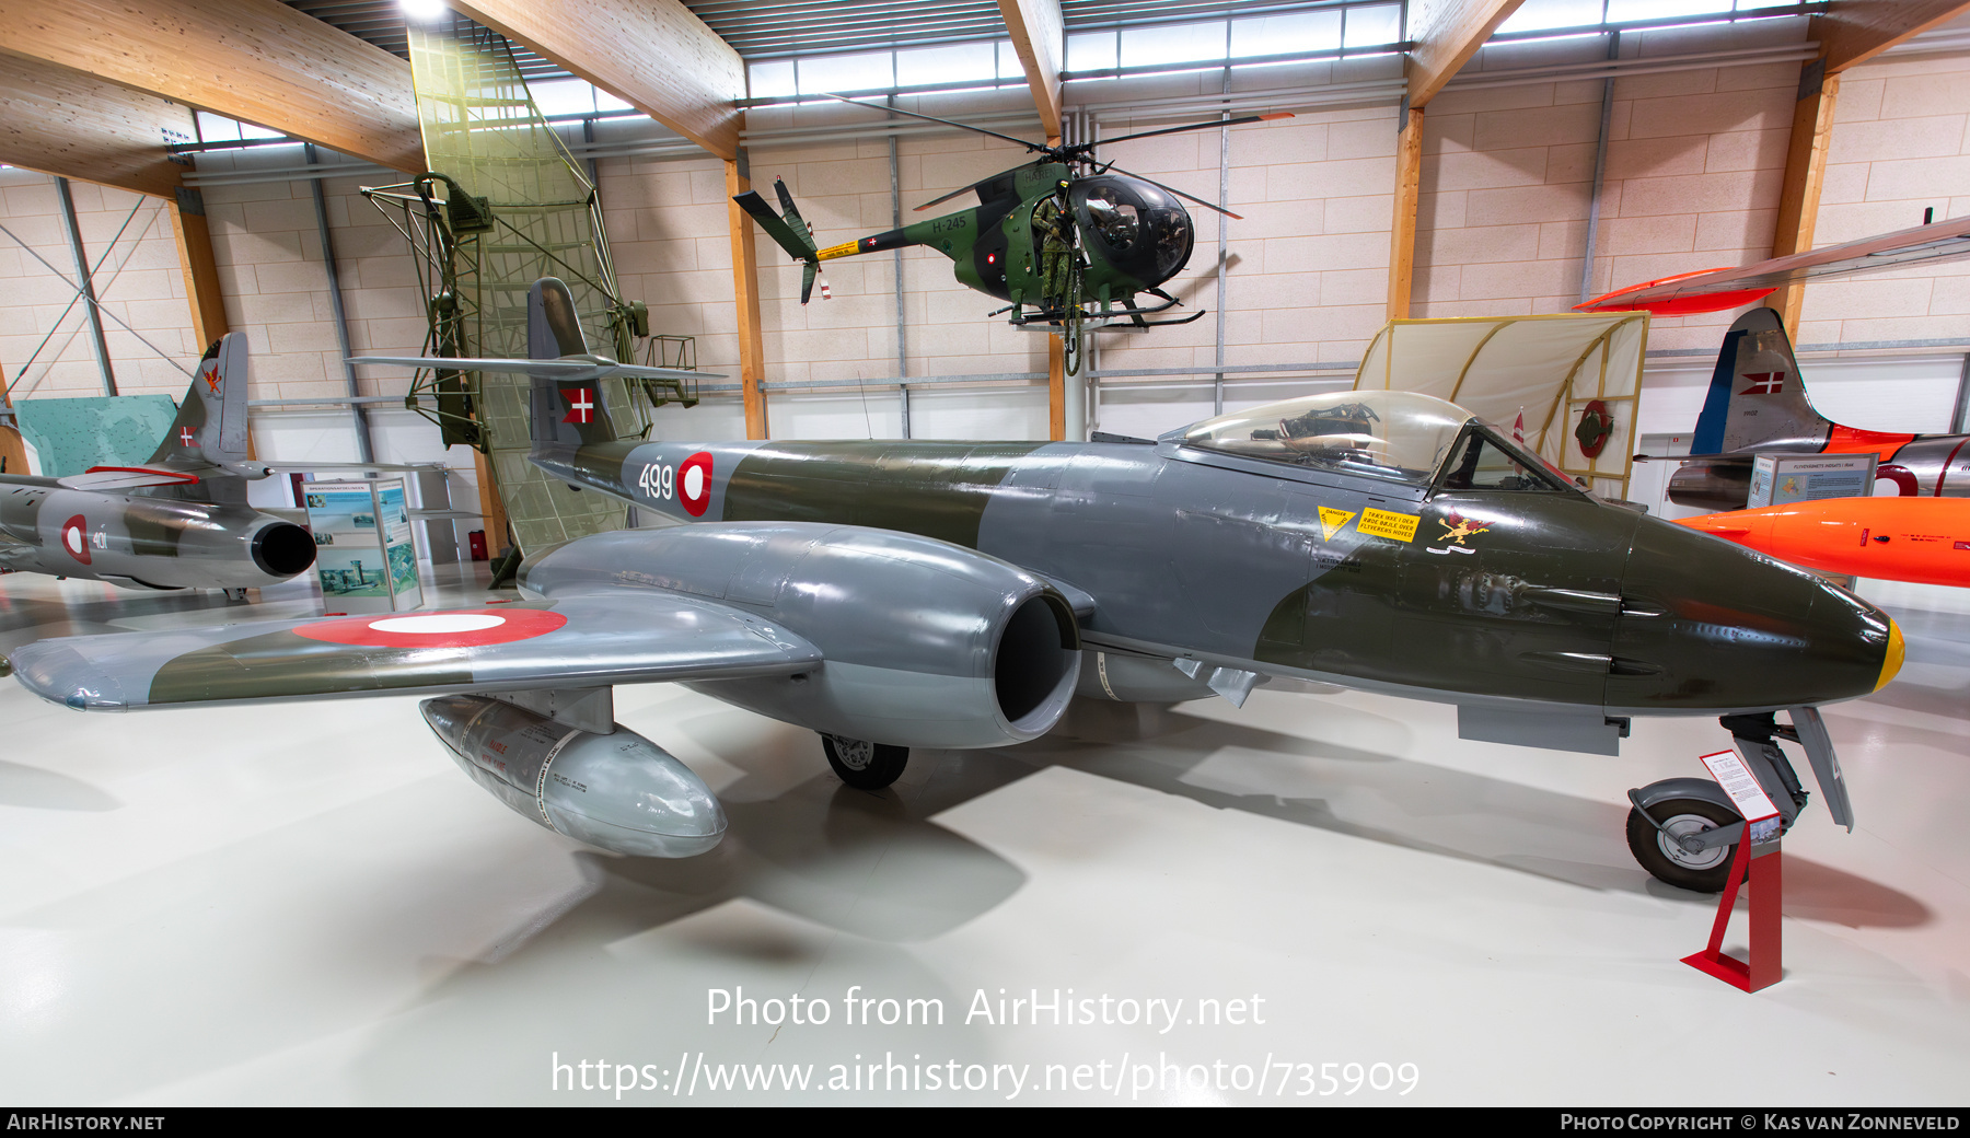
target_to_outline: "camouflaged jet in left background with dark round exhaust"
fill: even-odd
[[[0,474],[0,571],[244,599],[315,563],[307,530],[246,504],[246,480],[268,473],[246,457],[246,337],[230,333],[146,465]]]

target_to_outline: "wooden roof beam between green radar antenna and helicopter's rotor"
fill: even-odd
[[[447,2],[711,154],[739,156],[745,61],[678,0]]]

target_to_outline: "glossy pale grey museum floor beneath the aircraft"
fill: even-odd
[[[0,652],[315,604],[14,575]],[[1678,963],[1714,900],[1621,835],[1627,788],[1728,742],[1710,721],[1588,758],[1261,689],[863,793],[810,732],[626,687],[731,815],[660,862],[508,813],[416,699],[87,717],[6,681],[0,1101],[1960,1103],[1970,620],[1899,616],[1901,677],[1826,713],[1860,825],[1814,803],[1787,839],[1757,994]]]

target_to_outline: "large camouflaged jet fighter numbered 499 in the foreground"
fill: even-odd
[[[536,358],[585,350],[559,282],[532,317]],[[433,695],[439,738],[516,811],[682,854],[723,817],[611,723],[615,683],[808,727],[859,788],[910,748],[1046,734],[1076,695],[1243,705],[1273,677],[1594,754],[1631,717],[1712,715],[1791,825],[1806,791],[1773,740],[1805,744],[1850,823],[1816,709],[1901,665],[1899,630],[1854,595],[1598,500],[1418,394],[1306,396],[1154,441],[688,443],[619,439],[593,378],[536,378],[532,429],[550,474],[678,524],[548,551],[524,602],[45,640],[18,673],[79,711]],[[1722,884],[1745,827],[1716,784],[1633,805],[1651,872]]]

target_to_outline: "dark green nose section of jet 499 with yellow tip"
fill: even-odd
[[[1643,518],[1621,583],[1609,709],[1736,713],[1877,691],[1901,667],[1885,612],[1805,569]]]

